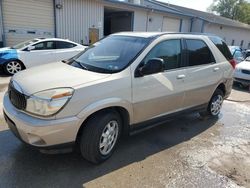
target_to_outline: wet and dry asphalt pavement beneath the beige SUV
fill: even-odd
[[[225,101],[219,119],[191,114],[163,123],[123,139],[100,165],[77,153],[41,154],[3,130],[0,187],[250,187],[249,114],[249,102]]]

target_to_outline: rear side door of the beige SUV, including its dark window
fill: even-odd
[[[185,44],[187,77],[184,107],[187,108],[208,103],[223,72],[204,40],[185,39]]]

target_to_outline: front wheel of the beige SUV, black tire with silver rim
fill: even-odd
[[[84,125],[80,137],[82,156],[95,164],[107,160],[114,152],[122,130],[117,112],[99,112]]]

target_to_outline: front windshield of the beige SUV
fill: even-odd
[[[109,36],[73,58],[72,65],[101,73],[119,72],[133,61],[149,40],[141,37]]]

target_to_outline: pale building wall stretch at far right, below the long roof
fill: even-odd
[[[228,45],[232,45],[234,40],[234,46],[241,46],[241,41],[243,40],[242,48],[250,48],[250,30],[221,26],[219,24],[206,24],[204,32],[220,36]]]

